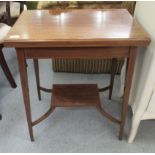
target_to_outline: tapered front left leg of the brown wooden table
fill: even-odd
[[[21,86],[22,86],[22,92],[23,92],[23,98],[24,98],[28,129],[29,129],[31,141],[34,141],[25,52],[24,52],[24,49],[16,49],[16,50],[17,50],[20,80],[21,80]]]

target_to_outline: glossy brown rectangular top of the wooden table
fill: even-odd
[[[5,46],[147,46],[148,34],[126,9],[28,10]]]

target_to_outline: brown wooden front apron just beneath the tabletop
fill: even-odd
[[[129,57],[130,47],[22,48],[25,58],[111,59]]]

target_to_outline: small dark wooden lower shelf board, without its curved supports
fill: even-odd
[[[100,103],[96,84],[54,84],[52,106],[96,106]]]

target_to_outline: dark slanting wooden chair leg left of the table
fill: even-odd
[[[6,63],[5,58],[4,58],[4,55],[3,55],[3,52],[2,52],[2,47],[3,46],[0,47],[0,65],[2,67],[2,70],[3,70],[3,72],[4,72],[4,74],[5,74],[6,78],[7,78],[7,80],[10,83],[11,87],[12,88],[16,88],[17,85],[16,85],[16,83],[15,83],[13,77],[12,77],[12,74],[10,72],[10,69],[9,69],[9,67],[8,67],[8,65]]]

